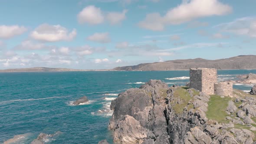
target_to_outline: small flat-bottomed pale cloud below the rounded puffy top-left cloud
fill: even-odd
[[[111,38],[108,33],[94,33],[92,36],[88,36],[87,39],[98,43],[111,42]]]

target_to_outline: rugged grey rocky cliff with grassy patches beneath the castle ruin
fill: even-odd
[[[256,98],[203,95],[151,80],[112,101],[109,128],[124,144],[252,144]]]

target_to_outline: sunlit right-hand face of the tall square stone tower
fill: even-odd
[[[202,69],[202,92],[213,95],[214,83],[217,83],[217,69]]]

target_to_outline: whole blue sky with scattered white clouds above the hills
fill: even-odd
[[[256,0],[0,0],[0,69],[256,55]]]

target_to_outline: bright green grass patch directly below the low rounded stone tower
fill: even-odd
[[[230,97],[220,98],[219,95],[210,95],[208,111],[206,112],[207,118],[218,122],[228,123],[226,120],[226,117],[228,116],[226,114],[226,107],[230,100]]]

